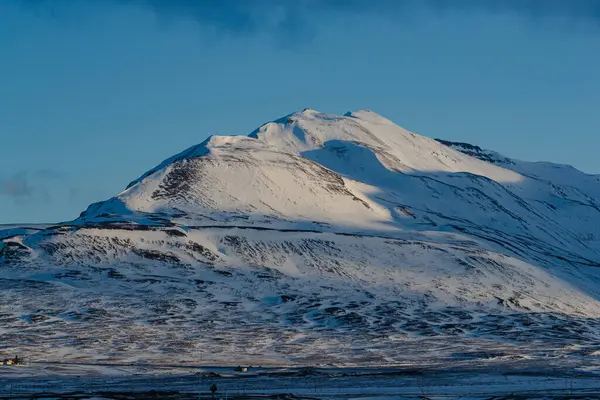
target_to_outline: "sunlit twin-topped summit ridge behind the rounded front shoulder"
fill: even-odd
[[[357,110],[340,116],[305,108],[267,122],[247,136],[210,136],[202,143],[164,160],[131,182],[128,188],[173,163],[207,156],[218,149],[270,149],[310,159],[315,154],[309,152],[329,152],[327,149],[348,143],[370,151],[388,170],[467,172],[496,181],[521,179],[516,172],[496,166],[492,159],[483,157],[479,148],[478,154],[469,153],[457,143],[417,135],[371,110]],[[476,146],[471,148],[476,149]],[[352,162],[360,164],[361,160]]]

